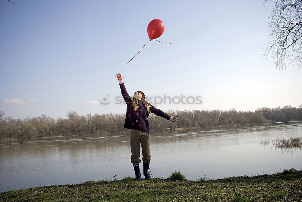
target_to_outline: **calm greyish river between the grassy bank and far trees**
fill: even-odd
[[[180,171],[188,180],[299,170],[302,150],[279,149],[271,141],[297,136],[301,121],[150,131],[150,170],[164,178]],[[0,191],[134,177],[129,137],[130,132],[1,140]]]

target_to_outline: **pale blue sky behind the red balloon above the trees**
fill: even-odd
[[[0,3],[5,116],[126,113],[119,72],[130,96],[143,91],[162,111],[302,104],[302,70],[276,70],[264,55],[263,1],[14,2]],[[171,44],[148,41],[153,19],[165,24],[157,40]]]

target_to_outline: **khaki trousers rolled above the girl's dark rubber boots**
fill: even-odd
[[[130,129],[130,147],[131,163],[140,163],[140,145],[142,145],[143,162],[149,163],[151,160],[150,153],[150,136],[148,132]]]

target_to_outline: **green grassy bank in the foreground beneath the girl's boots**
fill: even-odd
[[[302,201],[302,171],[186,180],[180,172],[167,179],[87,181],[0,193],[2,201]]]

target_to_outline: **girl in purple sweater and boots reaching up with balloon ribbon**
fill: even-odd
[[[146,101],[146,96],[142,91],[136,91],[133,98],[129,96],[125,88],[122,75],[118,73],[116,76],[120,84],[120,90],[127,104],[126,118],[124,128],[130,129],[130,147],[131,147],[131,163],[135,171],[135,179],[142,180],[140,175],[140,145],[143,154],[143,174],[145,179],[150,179],[149,164],[151,160],[150,154],[150,136],[148,116],[152,112],[157,116],[161,116],[169,121],[176,122],[178,116],[169,116],[160,109],[156,109],[153,105]]]

